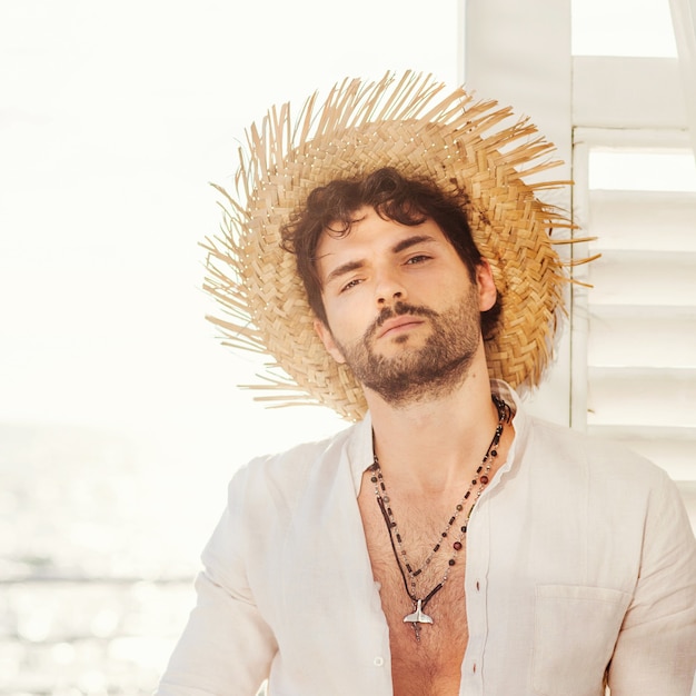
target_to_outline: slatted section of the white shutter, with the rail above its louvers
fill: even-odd
[[[676,63],[575,64],[578,111],[590,123],[575,129],[575,210],[597,238],[585,251],[601,257],[577,274],[593,288],[574,294],[573,426],[666,469],[696,527],[696,163],[688,132],[675,128],[679,92],[640,108],[646,72],[663,76],[665,92],[678,83]],[[622,106],[589,103],[601,89]],[[630,128],[617,130],[614,119]]]

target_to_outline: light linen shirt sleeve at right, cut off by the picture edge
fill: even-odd
[[[696,669],[696,541],[663,475],[650,494],[639,576],[609,666],[612,696],[689,696]]]

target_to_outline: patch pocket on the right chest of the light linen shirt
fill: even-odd
[[[630,596],[604,587],[539,585],[533,679],[538,696],[599,696]]]

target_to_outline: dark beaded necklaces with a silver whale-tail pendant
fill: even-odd
[[[397,565],[399,567],[399,571],[404,580],[404,587],[406,588],[406,594],[409,596],[412,603],[412,612],[404,617],[404,623],[410,624],[412,626],[417,642],[420,642],[420,625],[432,624],[432,617],[428,616],[424,612],[424,609],[426,608],[426,605],[430,601],[430,599],[432,599],[432,597],[435,597],[435,595],[439,593],[443,587],[445,587],[447,578],[449,577],[449,573],[457,563],[457,555],[464,547],[463,540],[467,531],[467,526],[469,524],[469,518],[471,517],[471,511],[474,510],[474,506],[476,505],[478,498],[480,497],[481,493],[490,480],[490,469],[493,467],[495,458],[498,456],[498,450],[496,449],[496,447],[500,443],[500,437],[503,436],[503,429],[505,427],[505,424],[510,421],[510,407],[496,395],[491,395],[491,398],[498,411],[498,425],[496,426],[496,431],[493,436],[493,439],[490,440],[490,445],[488,445],[488,449],[484,455],[484,459],[476,469],[476,474],[471,483],[469,484],[469,487],[461,496],[459,503],[457,503],[454,514],[447,520],[445,528],[440,533],[437,541],[435,543],[435,545],[430,549],[430,553],[426,556],[422,565],[419,568],[415,568],[414,565],[408,560],[406,548],[404,547],[404,539],[401,537],[401,533],[399,531],[399,527],[390,506],[389,495],[387,494],[387,487],[381,469],[379,467],[379,460],[377,459],[377,455],[374,455],[374,463],[369,467],[369,470],[371,473],[370,481],[375,485],[375,497],[377,499],[377,505],[379,506],[385,524],[387,525],[389,541],[391,543],[391,550],[394,551],[394,557],[396,558]],[[416,578],[426,569],[428,565],[430,565],[430,561],[435,558],[436,554],[440,550],[443,545],[446,544],[445,539],[447,539],[447,537],[449,536],[450,529],[459,518],[460,513],[464,511],[466,503],[467,500],[469,500],[473,494],[474,500],[471,500],[469,505],[469,509],[466,514],[466,519],[457,530],[457,536],[454,544],[451,545],[453,555],[451,558],[447,561],[447,568],[445,569],[443,578],[429,593],[427,593],[422,597],[418,597]]]

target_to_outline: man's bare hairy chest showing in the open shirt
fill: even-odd
[[[468,642],[464,590],[466,546],[454,554],[455,537],[451,537],[443,539],[441,547],[432,553],[438,541],[437,525],[409,524],[411,515],[406,509],[400,515],[405,521],[399,520],[402,548],[398,544],[392,548],[371,490],[364,487],[359,506],[372,576],[379,583],[381,608],[389,626],[395,696],[456,696]],[[402,568],[406,560],[411,568],[420,568],[428,557],[430,560],[411,579],[408,573],[399,569],[395,549],[401,555]],[[406,557],[402,556],[404,549]],[[455,565],[450,566],[453,556],[456,556]],[[412,616],[416,608],[409,595],[421,600],[431,595],[422,606],[422,614],[432,620],[431,624],[418,623],[415,629],[411,622],[404,620],[406,616]]]

